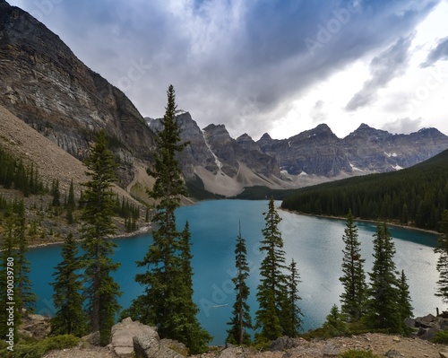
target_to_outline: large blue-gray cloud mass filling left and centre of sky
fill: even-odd
[[[143,116],[163,115],[172,83],[201,127],[256,138],[314,83],[397,38],[404,50],[437,2],[364,0],[350,12],[352,0],[57,0],[39,20]],[[41,3],[20,5],[36,13]],[[313,54],[307,40],[318,43]]]

